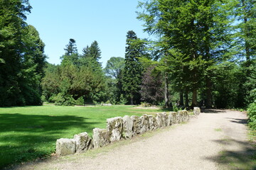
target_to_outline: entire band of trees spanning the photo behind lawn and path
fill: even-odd
[[[28,1],[0,1],[0,106],[83,103],[242,108],[256,98],[256,13],[250,0],[139,2],[144,30],[127,32],[125,57],[105,69],[97,41],[78,53],[70,39],[46,63]],[[9,6],[9,8],[7,8]]]

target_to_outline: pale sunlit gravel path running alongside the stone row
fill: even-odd
[[[75,155],[19,169],[222,169],[221,152],[249,148],[245,120],[245,113],[212,110],[97,157]]]

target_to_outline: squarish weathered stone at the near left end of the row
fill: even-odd
[[[67,154],[75,154],[75,140],[61,138],[56,141],[56,154],[64,156]]]

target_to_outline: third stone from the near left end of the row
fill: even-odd
[[[110,144],[110,132],[106,129],[94,128],[92,130],[92,138],[94,148]]]

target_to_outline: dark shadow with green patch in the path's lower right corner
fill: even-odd
[[[225,169],[256,169],[256,148],[250,142],[233,139],[214,140],[220,145],[238,145],[238,151],[225,149],[214,157],[206,157]]]

